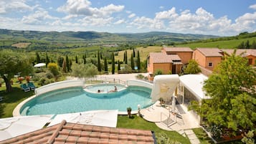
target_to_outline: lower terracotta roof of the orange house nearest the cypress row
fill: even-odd
[[[181,60],[177,54],[166,54],[163,52],[150,52],[153,63],[172,63],[173,60]]]

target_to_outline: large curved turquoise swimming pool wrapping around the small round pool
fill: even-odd
[[[113,87],[113,85],[112,85]],[[151,89],[147,87],[123,87],[118,92],[87,92],[82,87],[54,90],[34,97],[20,109],[21,115],[48,115],[88,110],[119,110],[126,112],[152,105]]]

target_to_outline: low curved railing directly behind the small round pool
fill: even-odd
[[[119,80],[119,79],[115,79],[115,78],[110,78],[110,77],[89,77],[87,79],[85,79],[85,84],[92,84],[93,82],[101,82],[101,83],[118,83],[118,84],[122,84],[122,85],[126,85],[127,82],[123,81],[123,80]]]

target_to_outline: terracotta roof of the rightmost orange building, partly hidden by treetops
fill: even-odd
[[[227,54],[231,55],[234,52],[234,49],[222,49],[223,52],[227,52]],[[242,54],[242,52],[245,52]],[[242,54],[242,57],[247,57],[252,55],[256,57],[256,49],[237,49],[236,55]]]

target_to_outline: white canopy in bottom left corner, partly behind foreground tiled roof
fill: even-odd
[[[37,115],[0,119],[0,140],[39,130],[44,127],[51,117],[52,115]]]

